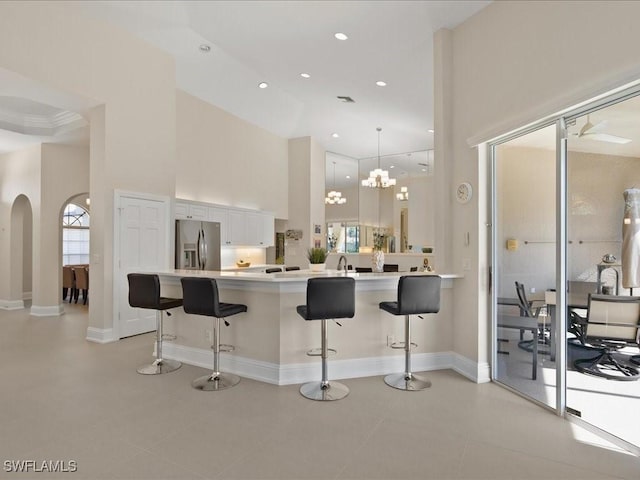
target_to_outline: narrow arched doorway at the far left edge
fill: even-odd
[[[31,300],[33,285],[33,210],[25,195],[18,195],[11,207],[11,256],[8,309],[24,308]]]

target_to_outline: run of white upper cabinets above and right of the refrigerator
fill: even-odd
[[[175,211],[176,218],[219,222],[222,246],[275,245],[275,219],[270,213],[183,201],[176,202]]]

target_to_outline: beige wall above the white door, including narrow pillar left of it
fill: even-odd
[[[113,323],[113,190],[174,196],[175,65],[168,54],[84,18],[75,8],[72,3],[1,2],[0,67],[105,105],[91,114],[97,117],[91,118],[95,295],[89,323],[108,330]]]

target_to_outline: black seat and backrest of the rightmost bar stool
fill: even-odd
[[[441,283],[437,275],[402,276],[398,280],[398,300],[380,302],[380,308],[392,315],[438,313]]]

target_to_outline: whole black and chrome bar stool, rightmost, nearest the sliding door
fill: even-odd
[[[411,372],[410,315],[438,313],[440,311],[440,284],[437,275],[402,276],[398,281],[398,301],[380,302],[380,308],[392,315],[404,315],[404,342],[391,345],[392,348],[404,348],[404,373],[393,373],[384,377],[387,385],[400,390],[424,390],[431,382]],[[422,317],[420,317],[422,318]]]

